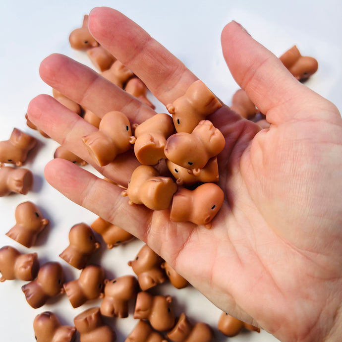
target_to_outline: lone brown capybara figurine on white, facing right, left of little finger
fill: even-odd
[[[27,248],[32,247],[49,220],[45,219],[38,207],[30,201],[20,203],[15,208],[14,216],[16,225],[6,235]]]

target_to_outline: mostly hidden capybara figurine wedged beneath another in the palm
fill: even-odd
[[[208,163],[199,172],[193,174],[192,170],[185,169],[182,166],[172,163],[170,160],[166,160],[168,169],[171,171],[174,178],[176,178],[176,184],[179,186],[193,185],[196,183],[212,183],[219,181],[219,166],[217,163],[217,157],[210,158]]]

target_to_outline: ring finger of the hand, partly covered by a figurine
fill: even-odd
[[[60,145],[91,164],[107,178],[127,186],[133,170],[139,165],[132,151],[119,154],[114,162],[101,168],[94,163],[82,141],[83,136],[98,130],[95,126],[49,95],[39,95],[34,98],[28,106],[27,114],[35,125]]]

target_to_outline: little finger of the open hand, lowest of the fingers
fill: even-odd
[[[44,175],[71,201],[145,239],[145,223],[149,222],[151,211],[144,206],[129,205],[127,198],[121,196],[120,187],[62,159],[49,162]]]

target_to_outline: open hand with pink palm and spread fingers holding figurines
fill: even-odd
[[[89,29],[165,105],[197,79],[113,9],[92,10]],[[129,206],[120,195],[122,189],[67,161],[50,162],[45,176],[74,202],[147,242],[223,311],[281,341],[338,341],[341,114],[298,82],[279,58],[236,22],[228,23],[221,39],[230,72],[271,126],[260,130],[227,106],[208,118],[226,138],[218,157],[225,201],[210,231],[191,223],[171,223],[169,210]],[[124,108],[131,123],[140,123],[154,114],[67,57],[47,57],[40,74],[99,116]],[[30,103],[28,115],[49,136],[94,165],[79,142],[94,126],[47,95]],[[131,155],[125,157],[125,163],[115,160],[97,170],[127,186],[137,162]]]

